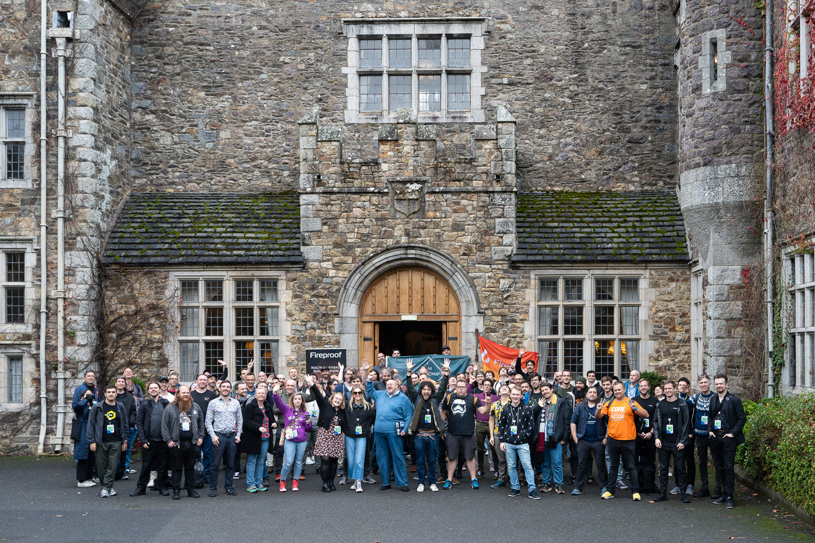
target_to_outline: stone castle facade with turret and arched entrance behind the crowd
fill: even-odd
[[[761,261],[751,2],[47,15],[44,104],[39,3],[7,0],[0,33],[0,135],[24,150],[0,179],[4,453],[70,449],[86,367],[190,381],[419,336],[476,360],[478,331],[544,374],[738,369]]]

